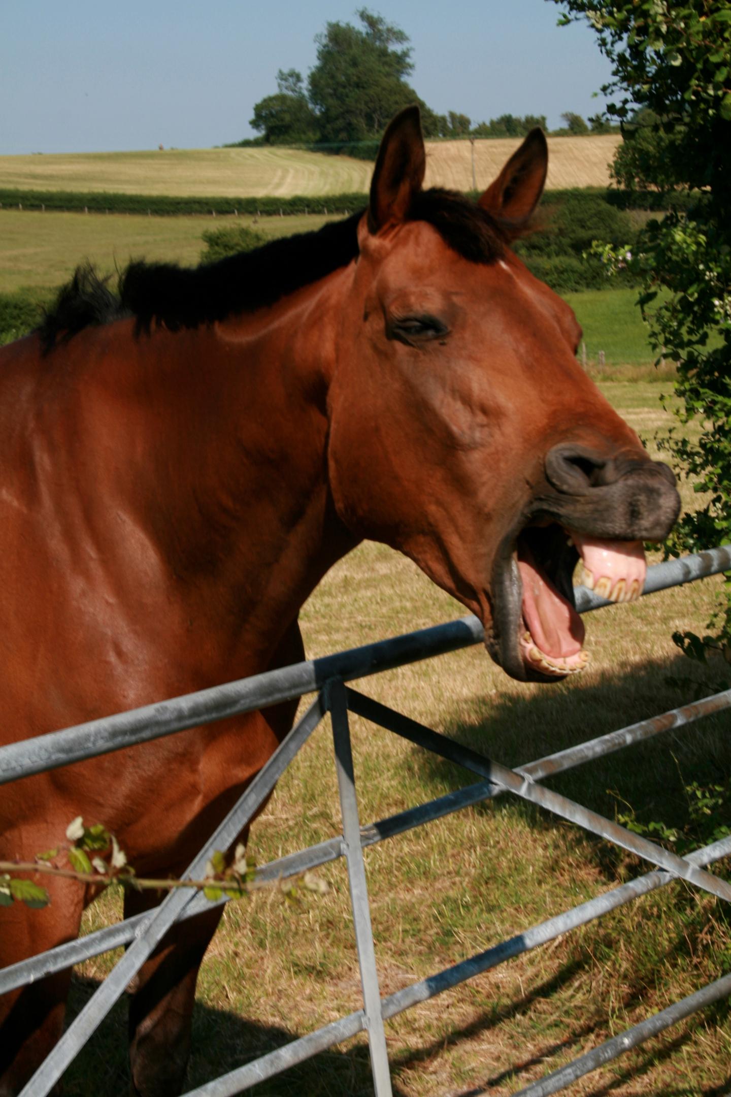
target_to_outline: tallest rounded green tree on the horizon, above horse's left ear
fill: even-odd
[[[361,8],[361,26],[328,23],[316,37],[317,64],[309,75],[309,100],[322,142],[376,142],[389,120],[421,100],[411,73],[407,34]]]

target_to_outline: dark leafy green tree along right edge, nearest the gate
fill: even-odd
[[[728,0],[557,0],[559,22],[586,19],[613,65],[607,113],[636,124],[644,147],[615,168],[636,188],[695,192],[686,213],[653,220],[631,259],[659,353],[678,363],[681,430],[670,449],[699,491],[671,550],[731,541],[731,8]],[[644,124],[641,124],[644,123]],[[629,127],[631,129],[631,125]],[[650,140],[649,137],[654,137]],[[628,140],[632,140],[629,137]],[[664,290],[661,295],[660,289]],[[698,441],[683,427],[690,420]],[[731,584],[710,646],[731,655]],[[678,636],[703,651],[698,637]],[[696,643],[697,642],[697,643]],[[700,647],[698,646],[700,645]]]

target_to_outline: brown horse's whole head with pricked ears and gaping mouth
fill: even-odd
[[[424,163],[410,108],[384,137],[341,315],[335,506],[472,610],[513,677],[563,676],[585,661],[578,553],[590,586],[637,597],[674,477],[576,362],[571,308],[510,250],[542,192],[541,132],[477,205],[422,191]]]

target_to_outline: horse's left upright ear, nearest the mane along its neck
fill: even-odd
[[[419,108],[407,106],[389,123],[378,149],[368,206],[372,233],[406,219],[412,196],[421,190],[425,168]]]

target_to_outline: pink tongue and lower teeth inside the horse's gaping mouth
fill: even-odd
[[[553,669],[563,672],[574,668],[584,641],[584,626],[573,606],[558,592],[545,573],[537,566],[530,551],[521,545],[517,566],[523,580],[523,618],[530,633],[524,637],[529,661],[538,661],[538,656],[560,660]],[[530,643],[533,642],[533,643]],[[535,649],[537,654],[534,654]],[[564,660],[568,660],[564,664]],[[581,666],[585,659],[582,658]],[[576,665],[575,669],[579,669]]]

